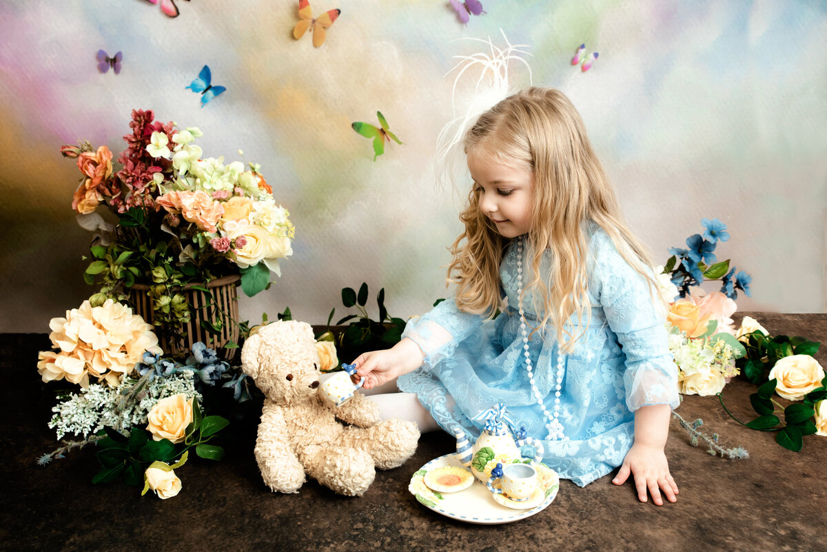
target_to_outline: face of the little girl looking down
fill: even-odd
[[[468,152],[467,161],[479,194],[480,211],[494,221],[497,232],[506,238],[527,233],[531,223],[533,173],[502,164],[479,147]]]

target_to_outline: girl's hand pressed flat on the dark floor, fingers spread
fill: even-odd
[[[663,454],[663,447],[635,443],[626,454],[623,465],[617,476],[612,479],[615,485],[622,485],[634,476],[634,487],[638,489],[640,502],[646,502],[646,493],[652,495],[652,502],[657,506],[663,505],[661,490],[669,502],[676,502],[677,485],[669,473],[667,456]]]

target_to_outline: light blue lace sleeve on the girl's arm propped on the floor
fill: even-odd
[[[666,320],[657,311],[646,278],[619,254],[605,231],[595,232],[595,283],[609,328],[626,355],[626,406],[680,404],[677,366],[669,351]]]

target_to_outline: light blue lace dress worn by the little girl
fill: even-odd
[[[516,310],[517,244],[508,246],[500,280],[509,307],[493,321],[460,312],[452,299],[409,321],[404,337],[425,354],[418,370],[397,382],[416,393],[442,429],[459,424],[471,442],[485,421],[477,416],[498,402],[516,425],[543,439],[543,462],[560,477],[583,487],[623,463],[634,435],[633,412],[639,407],[679,402],[677,368],[667,345],[665,319],[657,312],[645,279],[614,247],[600,227],[590,224],[589,297],[591,321],[575,350],[564,355],[560,421],[567,440],[547,440],[547,420],[533,396],[523,362],[523,339]],[[543,263],[547,265],[550,252]],[[526,264],[526,263],[523,263]],[[530,268],[529,268],[530,269]],[[530,278],[524,276],[525,281]],[[529,326],[538,316],[523,310]],[[576,316],[571,324],[576,327]],[[557,332],[545,339],[535,332],[528,341],[534,380],[548,412],[554,412]]]

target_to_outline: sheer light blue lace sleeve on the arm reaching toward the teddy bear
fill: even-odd
[[[483,317],[461,312],[453,297],[448,297],[423,316],[412,318],[402,337],[413,340],[423,355],[424,365],[433,367],[451,355],[454,348],[482,325]]]

